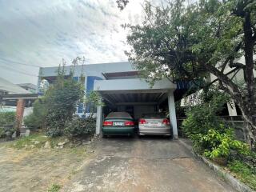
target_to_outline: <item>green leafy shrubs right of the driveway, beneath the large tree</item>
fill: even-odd
[[[194,150],[209,158],[227,158],[232,150],[249,154],[248,146],[235,140],[234,130],[217,116],[228,101],[226,94],[208,90],[199,97],[202,101],[186,111],[187,118],[182,122],[182,129],[192,140]]]

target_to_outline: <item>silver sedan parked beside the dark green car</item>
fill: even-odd
[[[164,114],[143,114],[138,121],[139,135],[171,135],[170,120]]]

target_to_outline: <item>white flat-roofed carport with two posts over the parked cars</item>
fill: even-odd
[[[138,118],[143,112],[158,110],[154,108],[168,101],[166,107],[170,113],[173,135],[174,138],[178,138],[175,89],[176,85],[168,79],[155,82],[152,87],[150,83],[140,78],[95,80],[94,82],[94,90],[98,91],[106,106],[118,111],[131,110],[134,118]],[[129,106],[131,106],[130,109]],[[96,134],[101,134],[102,118],[102,106],[97,106]]]

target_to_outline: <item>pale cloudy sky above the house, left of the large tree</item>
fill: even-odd
[[[127,61],[127,30],[142,22],[143,0],[0,0],[0,77],[37,84],[39,66]]]

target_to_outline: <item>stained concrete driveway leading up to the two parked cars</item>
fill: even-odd
[[[106,138],[63,191],[236,191],[169,138]]]

